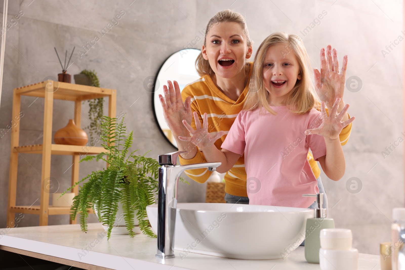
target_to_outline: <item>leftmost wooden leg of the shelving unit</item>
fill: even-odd
[[[15,206],[17,198],[17,171],[18,171],[18,153],[14,151],[14,147],[18,146],[20,135],[20,109],[21,95],[15,94],[13,91],[13,111],[12,117],[17,121],[17,125],[11,128],[11,149],[10,149],[10,171],[9,171],[9,199],[7,207],[7,227],[14,227],[15,213],[10,211],[11,206]]]

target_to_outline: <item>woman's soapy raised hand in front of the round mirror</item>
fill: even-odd
[[[177,81],[167,81],[167,85],[163,85],[164,98],[159,95],[160,104],[162,104],[164,120],[169,126],[174,135],[179,135],[187,132],[184,129],[183,121],[191,123],[191,97],[187,97],[185,102],[181,99],[179,84]],[[173,89],[174,85],[174,89]]]

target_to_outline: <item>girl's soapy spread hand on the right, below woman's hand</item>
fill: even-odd
[[[349,104],[346,104],[343,107],[343,110],[340,113],[337,113],[337,108],[339,106],[340,98],[337,98],[335,104],[333,104],[332,110],[329,112],[329,116],[325,110],[325,102],[321,102],[321,115],[322,123],[318,128],[313,128],[305,130],[305,135],[318,134],[328,138],[330,140],[339,140],[339,134],[342,129],[354,121],[354,117],[351,117],[349,120],[342,122],[341,120],[345,116]]]

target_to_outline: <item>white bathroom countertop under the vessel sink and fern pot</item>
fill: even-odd
[[[192,270],[309,270],[320,269],[319,264],[309,264],[305,261],[304,247],[298,247],[284,261],[275,260],[239,260],[225,259],[196,253],[185,253],[175,250],[175,258],[159,259],[156,254],[156,238],[137,234],[134,238],[128,235],[107,236],[100,223],[90,223],[88,232],[80,230],[79,224],[17,227],[7,232],[0,229],[0,245],[23,249],[72,261],[80,261],[117,270],[134,269],[192,269]],[[237,237],[237,236],[235,236]],[[85,247],[89,251],[84,251]],[[183,252],[184,253],[184,252]],[[360,270],[379,270],[379,256],[359,255]]]

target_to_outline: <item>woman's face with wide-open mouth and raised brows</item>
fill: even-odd
[[[246,36],[238,23],[218,23],[209,30],[202,53],[216,75],[232,78],[244,70],[252,46],[247,47]]]

